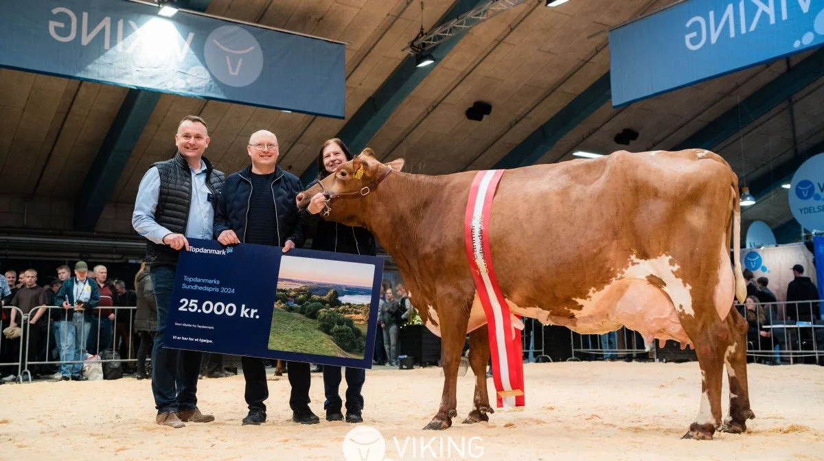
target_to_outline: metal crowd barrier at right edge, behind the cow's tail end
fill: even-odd
[[[824,365],[824,300],[757,303],[735,308],[747,319],[747,359],[772,365]]]

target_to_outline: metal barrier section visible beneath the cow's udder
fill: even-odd
[[[645,344],[644,338],[629,328],[622,327],[616,331],[603,334],[580,334],[570,330],[572,356],[567,361],[580,361],[582,358],[593,360],[639,359],[658,361],[653,344]]]

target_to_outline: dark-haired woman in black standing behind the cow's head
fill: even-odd
[[[338,138],[323,143],[317,156],[317,180],[335,173],[340,165],[352,160],[352,153]],[[322,203],[322,202],[321,202]],[[345,226],[335,221],[326,221],[320,217],[323,208],[310,205],[308,211],[312,218],[307,220],[307,229],[304,235],[312,237],[311,249],[334,251],[337,253],[375,255],[375,237],[363,227]],[[363,381],[366,380],[366,370],[362,368],[346,368],[346,421],[362,422],[363,410]],[[338,394],[340,385],[340,367],[323,366],[323,384],[326,401],[323,404],[326,410],[326,421],[342,421],[341,399]]]

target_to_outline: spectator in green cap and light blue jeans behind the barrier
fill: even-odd
[[[82,361],[86,360],[86,342],[91,328],[91,310],[100,302],[100,291],[97,283],[87,276],[89,267],[85,261],[77,261],[74,265],[74,277],[70,277],[57,295],[54,296],[54,305],[63,310],[53,309],[54,334],[60,344],[60,361],[77,361],[77,363],[63,363],[60,366],[60,375],[63,381],[86,380],[80,372],[83,370]]]

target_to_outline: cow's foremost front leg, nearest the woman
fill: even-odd
[[[466,340],[466,325],[469,324],[469,303],[461,303],[450,298],[438,299],[438,305],[446,306],[438,310],[441,327],[441,366],[443,370],[443,393],[438,414],[424,429],[440,431],[452,426],[452,418],[457,416],[456,389],[458,366]]]

